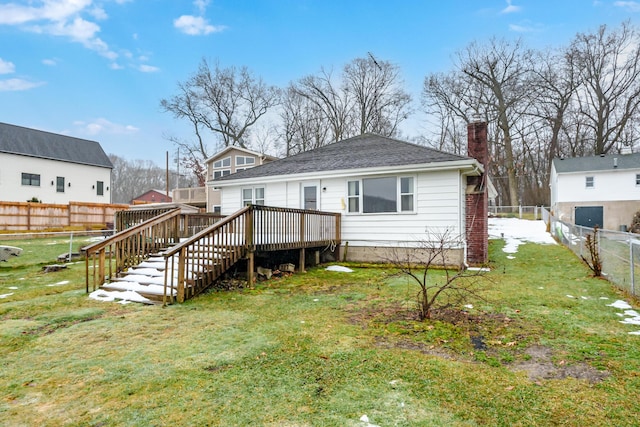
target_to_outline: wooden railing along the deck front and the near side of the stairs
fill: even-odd
[[[253,253],[304,249],[340,243],[340,214],[302,209],[247,206],[164,252],[163,302],[192,298],[208,288],[240,258]]]

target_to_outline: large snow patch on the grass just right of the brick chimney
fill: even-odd
[[[502,249],[506,253],[518,252],[518,246],[531,242],[538,244],[558,244],[547,233],[544,221],[529,221],[518,218],[489,218],[489,238],[504,239]]]

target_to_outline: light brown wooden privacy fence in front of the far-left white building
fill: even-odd
[[[68,205],[0,202],[0,230],[29,231],[65,227],[106,228],[129,205],[69,202]]]

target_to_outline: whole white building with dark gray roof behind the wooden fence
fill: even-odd
[[[113,165],[99,143],[0,123],[0,199],[111,203]]]

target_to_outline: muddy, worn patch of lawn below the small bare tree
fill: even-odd
[[[535,339],[535,334],[527,331],[531,325],[525,327],[504,314],[442,309],[435,310],[431,319],[420,322],[415,311],[398,303],[372,308],[369,301],[357,308],[351,306],[349,310],[349,320],[354,324],[363,328],[378,324],[385,331],[396,332],[376,337],[375,344],[380,348],[418,351],[445,360],[502,365],[514,372],[526,372],[533,382],[575,378],[597,383],[610,376],[608,371],[598,370],[587,363],[569,364],[555,360],[550,347],[538,344],[523,346],[522,343]],[[436,330],[439,324],[454,328],[453,341],[441,338]],[[505,353],[509,355],[507,360]]]

